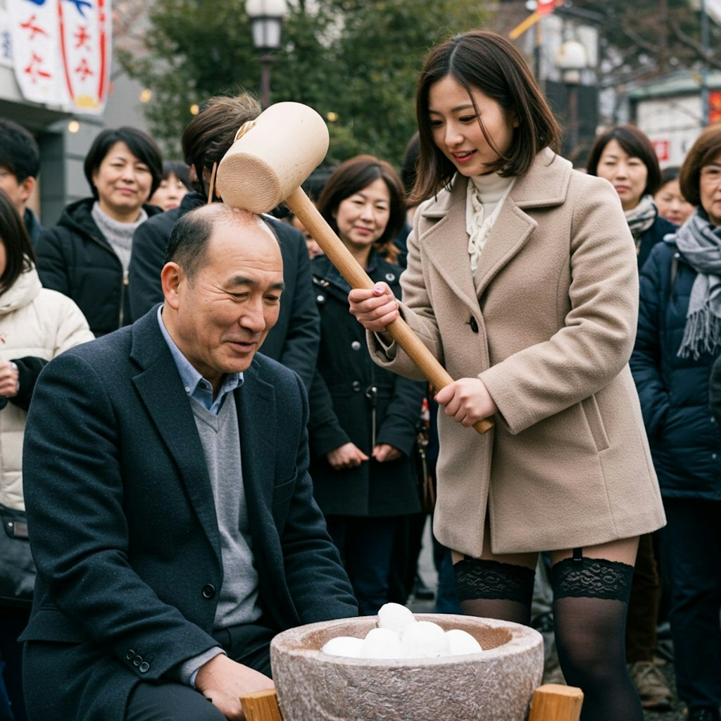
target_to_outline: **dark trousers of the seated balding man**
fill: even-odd
[[[213,637],[229,658],[270,676],[270,641],[275,633],[257,624],[244,624],[216,631]],[[125,721],[225,721],[225,717],[190,686],[173,681],[141,682],[128,698]]]

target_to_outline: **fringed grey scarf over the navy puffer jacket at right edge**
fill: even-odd
[[[721,226],[712,225],[703,209],[697,208],[676,234],[664,240],[676,242],[697,274],[678,356],[691,355],[697,361],[702,353],[716,355],[721,348]]]

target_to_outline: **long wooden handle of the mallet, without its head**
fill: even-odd
[[[327,224],[325,218],[320,214],[316,206],[301,188],[293,190],[291,195],[283,201],[288,208],[298,217],[298,220],[306,227],[306,230],[314,237],[322,247],[330,262],[337,267],[340,275],[348,280],[353,288],[376,287],[376,283],[368,277],[363,268],[358,265],[348,248],[342,244],[332,228]],[[398,343],[407,353],[408,357],[420,369],[423,375],[441,390],[454,382],[441,363],[438,363],[430,350],[423,345],[420,338],[410,329],[409,325],[402,318],[397,318],[386,326],[386,332]],[[478,420],[473,427],[478,433],[486,433],[493,427],[493,421],[489,418]]]

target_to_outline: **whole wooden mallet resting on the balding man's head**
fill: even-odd
[[[218,165],[216,192],[226,205],[252,213],[267,213],[285,203],[350,286],[370,290],[376,284],[300,187],[323,161],[328,143],[328,128],[311,107],[298,102],[271,105],[238,131]],[[436,389],[454,382],[404,319],[389,323],[386,331]],[[485,433],[492,426],[492,420],[484,419],[473,427]]]

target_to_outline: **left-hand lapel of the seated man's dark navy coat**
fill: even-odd
[[[177,366],[160,332],[156,309],[133,324],[131,358],[142,369],[133,384],[175,461],[200,526],[219,555],[218,521],[203,446]]]

